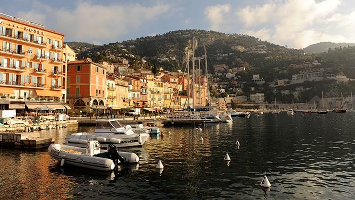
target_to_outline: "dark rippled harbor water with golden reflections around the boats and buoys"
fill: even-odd
[[[144,148],[122,149],[140,160],[120,166],[118,174],[60,167],[46,149],[0,149],[0,199],[354,198],[355,113],[233,119],[202,131],[164,127],[164,137],[152,137]],[[63,143],[68,134],[93,129],[42,130],[41,136]],[[268,189],[260,186],[264,172]]]

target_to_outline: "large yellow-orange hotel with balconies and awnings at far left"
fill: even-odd
[[[64,34],[0,13],[0,109],[69,109],[63,41]]]

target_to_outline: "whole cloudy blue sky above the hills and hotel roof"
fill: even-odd
[[[103,45],[180,29],[246,34],[290,48],[355,43],[354,0],[12,0],[0,12]]]

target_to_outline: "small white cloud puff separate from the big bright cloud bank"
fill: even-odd
[[[221,30],[223,26],[227,23],[228,17],[225,15],[230,12],[231,5],[216,5],[208,6],[204,10],[204,14],[210,22],[210,29],[212,30]]]

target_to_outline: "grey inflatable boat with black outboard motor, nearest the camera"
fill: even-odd
[[[117,151],[113,144],[108,150],[101,150],[97,138],[90,138],[86,148],[73,147],[61,144],[51,144],[48,147],[49,155],[60,161],[60,165],[70,164],[99,171],[111,171],[122,162],[136,163],[139,157],[135,153]]]

